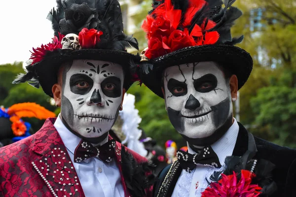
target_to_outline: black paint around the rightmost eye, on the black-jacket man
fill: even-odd
[[[211,92],[217,87],[217,83],[217,77],[214,74],[206,74],[193,81],[195,90],[200,93]]]

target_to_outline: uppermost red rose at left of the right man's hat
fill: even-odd
[[[158,17],[151,24],[151,32],[148,33],[149,36],[169,36],[171,30],[171,22],[166,20],[164,17]]]

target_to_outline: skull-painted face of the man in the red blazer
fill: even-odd
[[[123,80],[118,64],[74,60],[63,74],[61,114],[69,127],[88,138],[108,132],[118,116]]]

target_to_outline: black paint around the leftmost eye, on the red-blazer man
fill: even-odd
[[[74,74],[70,78],[70,90],[77,95],[87,94],[93,85],[94,81],[85,74]]]

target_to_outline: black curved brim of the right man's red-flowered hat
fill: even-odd
[[[140,72],[141,81],[157,96],[163,98],[162,74],[170,66],[194,62],[218,62],[237,76],[238,90],[246,83],[253,69],[253,59],[245,50],[232,45],[191,46],[152,59],[152,70]],[[145,66],[145,65],[144,65]]]

